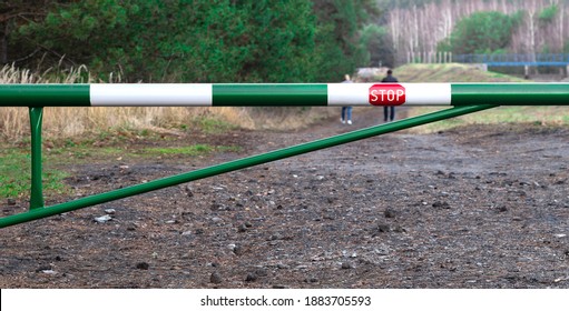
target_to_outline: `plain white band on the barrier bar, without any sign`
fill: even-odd
[[[213,87],[204,84],[91,84],[91,106],[212,106]]]

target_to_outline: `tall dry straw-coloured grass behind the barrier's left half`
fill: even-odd
[[[120,82],[120,77],[109,77]],[[48,70],[33,73],[30,70],[4,66],[0,70],[0,83],[96,83],[87,68],[70,70]],[[287,108],[46,108],[43,111],[43,136],[48,139],[80,137],[86,133],[131,130],[173,130],[188,128],[199,123],[203,118],[215,119],[244,129],[291,129],[326,114],[325,110],[307,109],[301,112]],[[29,137],[29,117],[27,108],[0,108],[0,139],[18,141]]]

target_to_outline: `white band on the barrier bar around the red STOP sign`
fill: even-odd
[[[328,106],[370,106],[370,88],[377,83],[328,83]],[[406,106],[451,104],[450,83],[398,83],[405,88]]]

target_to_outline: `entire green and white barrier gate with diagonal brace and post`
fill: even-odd
[[[474,103],[482,103],[475,104]],[[392,123],[321,139],[43,207],[41,121],[43,107],[97,106],[450,106]],[[0,84],[0,107],[29,107],[30,210],[0,218],[0,228],[267,163],[370,137],[400,131],[498,106],[567,106],[568,83],[328,83],[328,84]]]

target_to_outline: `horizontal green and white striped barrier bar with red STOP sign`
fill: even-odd
[[[0,84],[0,107],[566,106],[567,83]]]

